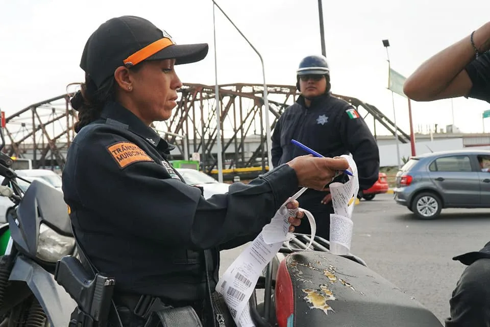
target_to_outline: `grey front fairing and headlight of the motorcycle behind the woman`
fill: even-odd
[[[72,236],[63,193],[34,180],[17,208],[18,226],[9,218],[11,236],[31,255],[36,255],[41,222],[64,236]],[[19,228],[20,226],[20,228]]]

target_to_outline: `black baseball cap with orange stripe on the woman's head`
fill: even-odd
[[[175,64],[197,62],[208,53],[207,43],[176,44],[152,22],[137,16],[109,19],[87,40],[80,67],[100,87],[119,66],[145,60],[176,59]]]

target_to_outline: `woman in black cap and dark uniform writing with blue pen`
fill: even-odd
[[[177,45],[150,21],[122,16],[102,24],[82,54],[85,83],[72,99],[78,135],[63,192],[80,246],[97,270],[115,277],[125,324],[143,323],[134,313],[141,296],[191,305],[202,316],[219,250],[253,240],[298,186],[322,190],[349,166],[343,158],[298,157],[208,200],[185,184],[166,160],[173,146],[150,125],[176,107],[182,83],[174,66],[207,52],[207,44]]]

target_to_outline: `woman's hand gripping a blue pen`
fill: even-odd
[[[296,171],[298,184],[303,188],[325,191],[325,187],[335,177],[336,171],[349,168],[345,158],[318,158],[310,155],[300,156],[287,162]]]

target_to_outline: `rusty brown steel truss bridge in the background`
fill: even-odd
[[[269,121],[273,130],[281,113],[296,101],[299,92],[294,85],[268,85],[267,92]],[[373,127],[375,136],[379,125],[395,135],[395,124],[374,105],[353,97],[334,96],[356,107],[366,123]],[[3,151],[10,156],[31,158],[33,168],[62,170],[66,151],[75,137],[73,127],[78,120],[69,99],[68,94],[60,95],[7,116]],[[225,175],[240,171],[255,171],[252,175],[257,175],[266,171],[263,86],[220,85],[219,102]],[[215,86],[184,84],[179,90],[173,117],[153,127],[169,143],[177,146],[172,152],[172,159],[183,159],[184,153],[199,153],[201,169],[214,173],[217,168],[216,126]],[[410,142],[410,135],[399,128],[398,137],[402,143]]]

